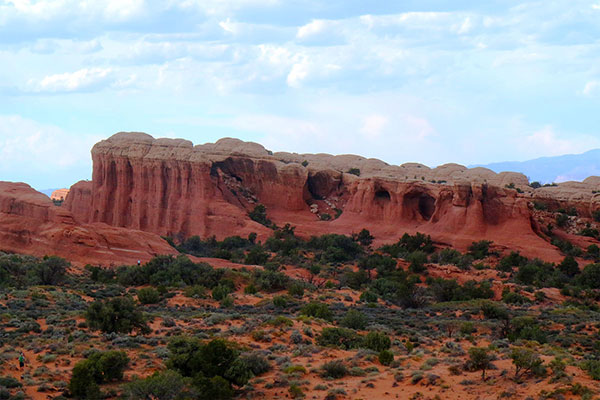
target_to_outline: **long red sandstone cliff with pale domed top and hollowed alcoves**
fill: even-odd
[[[96,144],[92,158],[92,181],[74,185],[64,204],[81,223],[179,238],[257,232],[264,239],[270,230],[248,218],[261,203],[269,218],[291,223],[301,235],[367,228],[379,242],[390,242],[420,231],[458,248],[488,239],[529,256],[559,258],[538,235],[530,212],[532,198],[547,190],[536,194],[522,174],[457,164],[392,166],[353,155],[273,154],[237,139],[194,146],[125,132]],[[588,212],[597,207],[589,192],[581,198]],[[573,196],[565,193],[564,201]],[[331,220],[320,220],[327,214]]]

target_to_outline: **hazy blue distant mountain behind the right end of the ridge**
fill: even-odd
[[[541,183],[582,181],[592,175],[600,176],[600,149],[583,154],[541,157],[528,161],[506,161],[487,165],[470,165],[489,168],[494,172],[521,172],[530,182]]]

